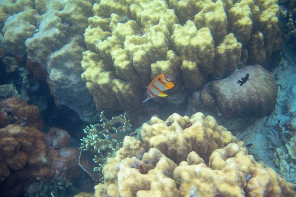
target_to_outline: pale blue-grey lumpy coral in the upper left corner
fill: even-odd
[[[88,0],[17,0],[0,5],[7,49],[17,56],[27,53],[31,61],[39,62],[49,74],[57,103],[74,109],[88,122],[99,116],[80,77],[83,33],[91,8]]]

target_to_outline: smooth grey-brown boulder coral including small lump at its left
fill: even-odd
[[[249,74],[248,80],[238,81]],[[205,83],[188,99],[187,113],[217,113],[224,117],[264,117],[276,105],[278,87],[269,71],[259,65],[244,66],[229,76]]]

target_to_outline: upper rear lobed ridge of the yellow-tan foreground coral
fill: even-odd
[[[151,125],[143,125],[141,135],[145,148],[157,148],[177,163],[185,161],[191,151],[208,160],[217,148],[238,142],[212,116],[205,117],[202,113],[190,119],[174,113],[166,121],[152,117]]]

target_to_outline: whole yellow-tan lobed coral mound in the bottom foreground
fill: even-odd
[[[142,137],[144,144],[124,138],[103,167],[104,183],[95,187],[95,197],[296,196],[293,184],[257,163],[211,116],[153,118]]]

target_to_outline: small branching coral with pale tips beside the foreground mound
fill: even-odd
[[[92,170],[99,171],[99,174],[101,174],[102,167],[107,159],[113,157],[115,151],[121,147],[124,136],[129,135],[133,131],[125,114],[114,116],[109,120],[105,117],[104,111],[102,111],[100,118],[102,124],[90,125],[90,127],[86,127],[83,130],[87,135],[81,139],[82,146],[79,148],[82,150],[80,151],[79,165],[91,176],[92,173],[90,171]],[[101,130],[98,131],[97,128],[101,128]],[[83,151],[92,152],[93,161],[99,166],[89,169],[88,163],[90,161],[83,161],[81,159]]]

